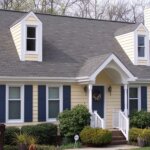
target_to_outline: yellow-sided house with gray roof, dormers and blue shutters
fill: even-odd
[[[92,127],[128,140],[128,116],[150,111],[149,16],[144,25],[0,10],[0,123],[56,122],[84,104]]]

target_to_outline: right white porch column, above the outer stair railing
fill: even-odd
[[[124,113],[126,116],[128,116],[128,85],[124,85]]]

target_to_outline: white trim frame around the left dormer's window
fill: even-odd
[[[28,39],[28,37],[27,37],[27,28],[28,27],[35,27],[36,29],[35,29],[35,31],[36,31],[36,33],[35,33],[35,38],[33,38],[33,39],[35,39],[35,51],[28,51],[27,50],[27,39]],[[32,38],[31,38],[32,39]],[[25,53],[28,55],[30,55],[30,54],[38,54],[38,26],[37,25],[26,25],[25,26]]]

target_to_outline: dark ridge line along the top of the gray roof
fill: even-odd
[[[19,10],[0,9],[0,11],[8,11],[8,12],[10,11],[10,12],[16,12],[16,13],[29,13],[32,10],[31,11],[19,11]],[[39,12],[34,12],[34,13],[38,14],[38,15],[48,15],[48,16],[54,16],[54,17],[65,17],[65,18],[90,20],[90,21],[105,21],[105,22],[114,22],[114,23],[135,24],[135,22],[115,21],[115,20],[106,20],[106,19],[94,19],[94,18],[83,18],[83,17],[66,16],[66,15],[53,15],[53,14],[49,14],[49,13],[39,13]]]

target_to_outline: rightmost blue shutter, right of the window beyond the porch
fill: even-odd
[[[147,111],[147,87],[141,87],[141,109]]]

